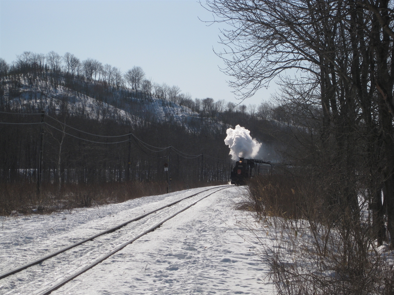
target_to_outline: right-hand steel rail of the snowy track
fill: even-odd
[[[224,188],[221,188],[220,190],[224,190],[224,189],[229,188],[229,187],[232,187],[232,186],[226,186],[226,187],[224,187]],[[206,197],[209,197],[209,196],[212,195],[212,194],[215,194],[216,192],[219,192],[220,190],[216,190],[216,191],[214,191],[214,192],[212,192],[212,193],[210,193],[210,194],[208,194],[208,195],[202,197],[201,199],[195,201],[195,202],[192,203],[191,205],[186,206],[186,207],[183,208],[182,210],[179,210],[178,212],[176,212],[175,214],[171,215],[170,217],[168,217],[168,218],[166,218],[166,219],[160,221],[159,223],[156,223],[153,227],[151,227],[151,228],[148,229],[148,230],[145,230],[145,232],[143,232],[142,234],[139,234],[138,236],[136,236],[136,237],[133,238],[132,240],[123,243],[122,245],[120,245],[119,247],[117,247],[115,250],[113,250],[113,251],[111,251],[110,253],[108,253],[108,254],[102,256],[101,258],[95,260],[93,263],[91,263],[91,264],[85,266],[85,267],[84,267],[83,269],[81,269],[80,271],[74,273],[73,275],[71,275],[70,277],[66,278],[65,280],[62,280],[61,282],[59,282],[58,284],[52,286],[51,288],[46,289],[46,290],[43,291],[42,293],[39,293],[39,295],[48,295],[48,294],[52,293],[52,291],[55,291],[55,290],[59,289],[61,286],[67,284],[69,281],[71,281],[71,280],[73,280],[74,278],[76,278],[76,277],[82,275],[83,273],[85,273],[85,272],[88,271],[89,269],[95,267],[95,266],[96,266],[97,264],[99,264],[100,262],[103,262],[103,261],[106,260],[108,257],[112,256],[113,254],[117,253],[118,251],[121,251],[123,248],[125,248],[127,245],[131,244],[131,243],[134,242],[135,240],[138,240],[138,239],[141,238],[142,236],[145,236],[145,234],[148,234],[149,232],[152,232],[152,231],[154,231],[155,229],[158,229],[163,223],[165,223],[165,221],[167,221],[167,220],[169,220],[169,219],[171,219],[171,218],[177,216],[179,213],[181,213],[181,212],[183,212],[183,211],[189,209],[191,206],[197,204],[199,201],[205,199]],[[199,193],[197,193],[197,194],[199,194]]]

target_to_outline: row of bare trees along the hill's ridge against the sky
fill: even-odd
[[[190,111],[198,112],[203,116],[216,117],[218,113],[223,112],[229,114],[234,112],[245,114],[247,112],[251,117],[257,116],[261,119],[271,120],[273,119],[273,113],[275,113],[271,112],[271,109],[275,109],[275,106],[269,102],[262,102],[256,106],[255,104],[236,104],[225,100],[214,101],[213,98],[195,98],[193,100],[189,92],[181,93],[182,90],[176,85],[169,86],[167,83],[160,84],[152,82],[152,79],[146,79],[145,72],[140,66],[134,66],[122,73],[119,68],[108,64],[102,65],[97,59],[88,58],[80,61],[72,53],[66,52],[61,56],[54,51],[46,55],[26,51],[17,55],[17,60],[11,64],[0,58],[0,77],[13,73],[22,74],[23,78],[28,79],[28,83],[32,85],[37,73],[42,74],[43,72],[50,72],[52,77],[55,78],[63,75],[66,76],[68,81],[70,79],[82,79],[82,81],[88,82],[86,84],[89,84],[89,82],[96,85],[101,83],[106,87],[118,90],[126,89],[126,86],[128,86],[131,90],[148,96],[154,95],[165,101],[185,106]],[[56,81],[54,81],[54,85],[56,85]],[[67,81],[66,85],[72,88],[72,85],[69,85]]]

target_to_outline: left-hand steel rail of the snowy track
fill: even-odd
[[[219,187],[220,187],[220,186],[219,186]],[[39,259],[37,259],[37,260],[34,260],[33,262],[30,262],[30,263],[28,263],[28,264],[25,264],[25,265],[22,265],[22,266],[20,266],[20,267],[17,267],[17,268],[15,268],[15,269],[11,270],[11,271],[6,272],[6,273],[3,273],[3,274],[0,275],[0,279],[9,277],[10,275],[13,275],[13,274],[15,274],[15,273],[19,273],[20,271],[22,271],[22,270],[24,270],[24,269],[27,269],[27,268],[29,268],[29,267],[31,267],[31,266],[33,266],[33,265],[39,264],[39,263],[41,263],[41,262],[43,262],[43,261],[45,261],[45,260],[48,260],[49,258],[52,258],[52,257],[54,257],[54,256],[56,256],[56,255],[58,255],[58,254],[60,254],[60,253],[63,253],[63,252],[65,252],[65,251],[67,251],[67,250],[70,250],[70,249],[72,249],[72,248],[74,248],[74,247],[77,247],[77,246],[79,246],[79,245],[81,245],[81,244],[83,244],[83,243],[86,243],[86,242],[89,242],[89,241],[91,241],[91,240],[94,240],[95,238],[97,238],[97,237],[99,237],[99,236],[102,236],[102,235],[104,235],[104,234],[109,234],[109,233],[111,233],[111,232],[114,232],[115,230],[121,229],[121,228],[124,227],[125,225],[128,225],[128,224],[131,223],[131,222],[134,222],[134,221],[137,221],[137,220],[139,220],[139,219],[142,219],[142,218],[144,218],[144,217],[146,217],[146,216],[148,216],[148,215],[150,215],[150,214],[153,214],[154,212],[157,212],[157,211],[162,210],[162,209],[164,209],[164,208],[170,207],[170,206],[175,205],[175,204],[177,204],[177,203],[179,203],[179,202],[181,202],[181,201],[183,201],[183,200],[186,200],[186,199],[188,199],[188,198],[194,197],[195,195],[198,195],[198,194],[201,194],[201,193],[203,193],[203,192],[206,192],[206,191],[208,191],[208,190],[213,190],[213,189],[215,189],[215,188],[208,188],[207,190],[203,190],[203,191],[198,192],[198,193],[196,193],[196,194],[189,195],[189,196],[184,197],[184,198],[182,198],[182,199],[180,199],[180,200],[178,200],[178,201],[175,201],[175,202],[173,202],[173,203],[171,203],[171,204],[162,206],[162,207],[160,207],[160,208],[158,208],[158,209],[155,209],[155,210],[153,210],[153,211],[151,211],[151,212],[147,212],[147,213],[145,213],[145,214],[143,214],[143,215],[141,215],[141,216],[138,216],[138,217],[133,218],[133,219],[131,219],[131,220],[129,220],[129,221],[126,221],[126,222],[122,223],[121,225],[117,225],[116,227],[113,227],[113,228],[111,228],[111,229],[104,230],[103,232],[100,232],[100,233],[95,234],[94,236],[91,236],[91,237],[89,237],[89,238],[86,238],[86,239],[84,239],[84,240],[82,240],[82,241],[80,241],[80,242],[74,243],[74,244],[72,244],[72,245],[70,245],[70,246],[68,246],[68,247],[65,247],[65,248],[63,248],[63,249],[60,249],[59,251],[56,251],[56,252],[54,252],[54,253],[52,253],[52,254],[48,254],[48,255],[46,255],[46,256],[44,256],[44,257],[42,257],[42,258],[39,258]]]

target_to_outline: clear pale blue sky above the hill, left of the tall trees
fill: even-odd
[[[88,57],[124,72],[141,66],[158,83],[178,85],[193,98],[236,101],[212,48],[223,48],[212,14],[195,1],[0,0],[0,57],[8,63],[24,51]],[[245,104],[267,100],[260,90]]]

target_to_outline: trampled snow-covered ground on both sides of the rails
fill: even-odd
[[[271,294],[272,284],[265,278],[268,267],[256,255],[258,245],[245,227],[251,217],[234,209],[242,189],[231,186],[208,196],[53,294]],[[71,214],[2,219],[0,273],[203,190],[143,197]],[[39,294],[211,192],[4,278],[0,294]]]

